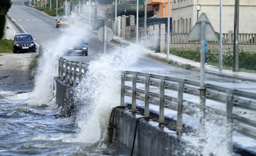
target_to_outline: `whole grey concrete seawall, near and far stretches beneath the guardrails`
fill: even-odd
[[[56,102],[61,109],[62,115],[65,117],[75,116],[79,103],[74,103],[73,100],[74,87],[65,84],[65,81],[61,81],[60,78],[55,78],[55,82]],[[127,107],[129,107],[129,104]],[[123,109],[116,108],[114,113],[114,143],[122,155],[131,154],[136,120],[143,117],[140,114],[132,114],[131,109],[127,107]],[[137,108],[143,114],[143,108],[139,106]],[[189,141],[186,141],[184,137],[177,136],[175,130],[167,128],[174,127],[175,129],[175,120],[165,118],[166,127],[159,127],[158,122],[156,122],[158,120],[158,112],[150,111],[150,117],[154,118],[154,121],[152,119],[140,119],[138,121],[133,156],[197,156],[201,154],[202,149],[195,147]],[[184,133],[188,133],[191,130],[191,127],[183,126]],[[236,144],[233,149],[235,153],[239,153],[242,156],[256,156],[255,153]]]

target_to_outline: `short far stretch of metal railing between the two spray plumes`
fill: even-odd
[[[79,84],[82,82],[82,77],[85,77],[85,73],[88,70],[89,64],[84,62],[76,62],[76,61],[69,61],[64,59],[63,57],[59,58],[59,77],[61,77],[61,81],[64,81],[64,74],[65,74],[65,83],[76,86],[76,78],[79,80]]]

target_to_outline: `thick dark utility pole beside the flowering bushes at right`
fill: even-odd
[[[239,0],[235,0],[233,71],[238,70]]]

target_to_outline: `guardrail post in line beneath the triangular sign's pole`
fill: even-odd
[[[200,117],[199,117],[199,139],[201,142],[205,140],[205,86],[200,89]]]

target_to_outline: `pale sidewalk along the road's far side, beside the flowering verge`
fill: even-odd
[[[114,41],[119,42],[119,43],[131,43],[127,41],[125,38],[119,37],[119,36],[114,36],[113,38]],[[145,53],[148,53],[150,55],[158,56],[160,58],[165,58],[167,59],[167,54],[165,53],[155,53],[155,51],[151,51],[149,49],[143,48],[143,51]],[[198,69],[200,69],[200,62],[195,62],[192,60],[184,59],[175,55],[169,55],[169,59],[171,61],[177,62],[178,64],[190,64]],[[228,77],[232,79],[240,79],[242,81],[253,81],[256,82],[256,74],[253,73],[247,73],[247,72],[233,72],[232,70],[225,70],[223,69],[222,71],[219,71],[218,67],[212,66],[212,65],[206,65],[205,66],[205,72],[217,76],[223,76],[223,77]]]

